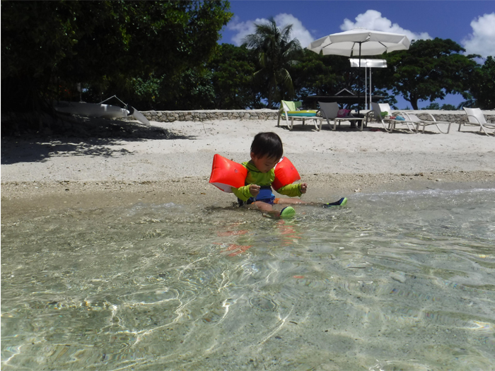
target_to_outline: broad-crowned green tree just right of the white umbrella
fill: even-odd
[[[467,76],[474,71],[477,56],[460,54],[464,51],[450,39],[417,40],[409,50],[384,54],[388,69],[376,76],[381,88],[402,95],[414,110],[419,100],[443,99],[453,93],[467,98]]]

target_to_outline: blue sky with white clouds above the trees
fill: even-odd
[[[451,39],[466,49],[466,54],[495,57],[494,0],[231,0],[231,21],[222,30],[220,42],[241,45],[245,35],[254,33],[255,23],[273,17],[276,24],[293,25],[292,37],[308,47],[310,42],[352,28],[402,33],[409,40],[440,37]],[[368,57],[369,58],[369,57]],[[479,59],[483,63],[484,59]],[[397,97],[397,107],[410,107]],[[457,106],[461,95],[436,100],[440,105]],[[429,101],[420,101],[426,107]]]

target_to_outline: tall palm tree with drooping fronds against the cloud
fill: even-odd
[[[254,77],[266,84],[268,107],[274,102],[293,95],[292,78],[287,68],[296,64],[301,55],[299,40],[291,40],[292,25],[281,30],[273,18],[268,23],[257,25],[252,35],[243,40],[247,46],[257,52],[261,69]]]

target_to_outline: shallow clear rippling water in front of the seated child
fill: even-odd
[[[4,223],[2,370],[492,370],[495,189]]]

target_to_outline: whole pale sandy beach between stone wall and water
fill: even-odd
[[[100,126],[95,119],[89,122]],[[426,134],[369,130],[378,124],[362,132],[345,124],[337,131],[326,124],[322,131],[313,124],[289,131],[272,120],[110,126],[120,131],[3,138],[2,216],[139,201],[229,205],[233,194],[208,184],[213,155],[248,160],[252,138],[260,131],[281,136],[284,154],[308,183],[308,201],[334,201],[356,192],[495,184],[494,138],[475,128],[459,132],[455,124],[450,134],[431,126]]]

